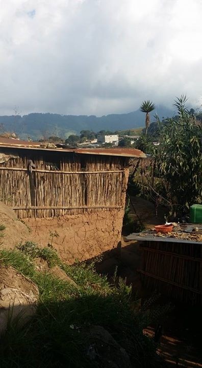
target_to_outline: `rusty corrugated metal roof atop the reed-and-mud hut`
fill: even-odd
[[[104,156],[122,156],[122,157],[142,157],[145,158],[146,155],[142,151],[136,148],[43,148],[40,147],[40,142],[29,142],[20,141],[16,139],[0,137],[0,147],[4,148],[26,148],[32,150],[42,150],[42,151],[59,151],[59,152],[74,152],[81,154],[95,154]]]

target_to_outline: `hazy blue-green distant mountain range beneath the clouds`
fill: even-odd
[[[173,111],[157,106],[151,113],[158,113],[160,119],[173,116]],[[67,138],[69,134],[79,134],[81,130],[126,130],[144,126],[145,114],[140,110],[122,114],[109,114],[102,117],[87,115],[59,115],[54,113],[30,113],[24,116],[0,116],[0,130],[15,132],[21,139],[28,136],[33,140],[57,135]]]

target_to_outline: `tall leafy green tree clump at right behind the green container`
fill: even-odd
[[[191,204],[202,202],[202,131],[186,102],[186,96],[177,98],[178,114],[157,121],[160,144],[153,147],[148,162],[142,163],[134,176],[135,185],[155,204],[156,213],[159,203],[169,207],[170,220],[185,215]],[[141,137],[139,142],[146,153],[148,138]]]

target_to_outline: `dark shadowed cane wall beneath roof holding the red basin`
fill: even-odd
[[[202,245],[145,242],[143,284],[175,300],[202,305]]]

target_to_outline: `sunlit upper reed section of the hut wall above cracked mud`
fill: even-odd
[[[0,200],[19,218],[123,209],[127,188],[122,157],[11,158],[0,165]]]

